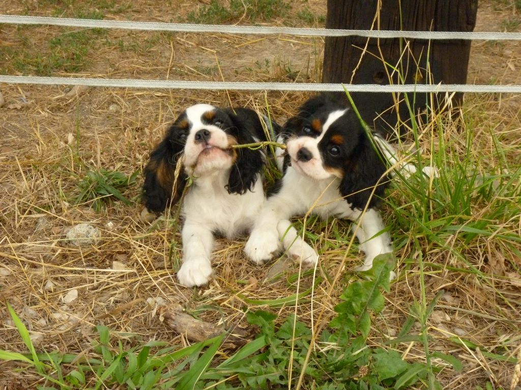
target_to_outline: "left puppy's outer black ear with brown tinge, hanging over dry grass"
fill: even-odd
[[[184,145],[171,136],[175,125],[170,126],[166,137],[150,155],[144,169],[143,201],[148,211],[161,213],[167,204],[176,204],[181,198],[187,175],[181,169],[176,180],[175,172]]]

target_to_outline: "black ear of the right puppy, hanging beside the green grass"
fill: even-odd
[[[344,177],[339,190],[342,197],[351,203],[352,207],[363,210],[378,205],[383,197],[390,177],[382,175],[386,172],[386,164],[366,135],[355,148],[355,152],[344,162]],[[377,185],[374,193],[373,188]],[[373,196],[371,196],[371,193]]]

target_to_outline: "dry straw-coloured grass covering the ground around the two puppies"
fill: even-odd
[[[132,8],[116,16],[165,20],[164,10],[154,2],[139,3],[142,5],[139,10]],[[309,3],[325,12],[321,3],[311,0]],[[21,13],[16,2],[9,5],[9,13]],[[185,15],[191,7],[192,2],[177,2],[171,12]],[[51,9],[42,6],[30,9],[30,13],[47,15]],[[487,3],[480,12],[478,15],[488,18],[497,11],[492,11]],[[479,20],[482,19],[478,19],[478,25]],[[271,24],[280,23],[276,20]],[[2,26],[2,31],[0,44],[18,44],[15,27]],[[40,27],[30,31],[41,34],[34,36],[34,43],[38,44],[39,40],[44,42],[48,36],[64,30]],[[488,82],[496,77],[495,80],[518,83],[518,71],[512,73],[510,69],[521,68],[519,53],[508,55],[505,50],[511,50],[511,45],[506,45],[506,48],[488,47],[486,43],[475,45],[473,58],[486,58],[488,62],[481,65],[488,71],[486,74],[477,71],[473,63],[469,80]],[[288,47],[293,50],[291,53]],[[322,42],[282,36],[259,39],[110,31],[103,35],[103,42],[96,43],[96,50],[96,60],[81,75],[317,81]],[[494,50],[508,56],[504,67],[490,68],[490,51]],[[245,309],[268,308],[251,300],[276,300],[311,287],[312,276],[301,278],[299,284],[297,278],[289,277],[299,273],[295,264],[284,265],[285,274],[272,280],[271,265],[257,267],[247,263],[242,253],[244,238],[240,238],[218,241],[213,260],[215,280],[206,288],[184,288],[177,283],[174,271],[181,256],[179,229],[166,220],[156,230],[149,231],[150,224],[140,219],[139,185],[125,192],[127,198],[134,200],[132,206],[114,202],[95,213],[91,203],[74,204],[79,191],[77,181],[86,167],[104,167],[129,175],[141,170],[165,125],[189,105],[204,101],[227,106],[231,101],[235,106],[264,110],[267,99],[271,114],[283,122],[309,95],[104,88],[82,90],[79,96],[68,96],[67,92],[63,86],[2,86],[7,105],[15,106],[0,108],[0,297],[13,305],[39,350],[89,354],[93,327],[100,323],[117,332],[126,345],[164,340],[183,346],[188,343],[183,335],[172,334],[155,316],[158,300],[182,302],[189,311],[207,321],[244,323]],[[468,95],[463,114],[470,118],[467,127],[463,132],[456,126],[446,128],[444,140],[435,138],[432,153],[441,143],[451,146],[451,159],[465,155],[465,134],[472,132],[473,153],[479,157],[481,167],[495,172],[497,145],[491,137],[495,134],[505,161],[511,168],[519,167],[520,103],[520,96]],[[429,134],[429,129],[426,131]],[[429,139],[425,139],[425,145],[428,159]],[[394,189],[390,197],[398,203],[402,193]],[[518,202],[519,198],[513,201]],[[487,381],[495,388],[508,388],[511,383],[516,388],[521,342],[521,245],[518,242],[507,245],[494,235],[478,236],[461,253],[468,262],[465,264],[451,250],[454,246],[462,248],[456,244],[460,239],[457,232],[443,236],[447,239],[445,247],[426,237],[407,236],[403,220],[399,220],[390,206],[386,207],[384,215],[398,246],[396,256],[400,259],[401,276],[386,296],[386,309],[375,319],[369,342],[380,345],[389,336],[398,334],[411,314],[411,306],[421,301],[422,290],[427,300],[444,290],[427,324],[429,348],[450,353],[464,363],[462,373],[446,369],[438,374],[444,388],[484,387]],[[487,215],[486,205],[474,204],[472,219],[478,220],[482,215]],[[75,248],[65,242],[67,230],[80,222],[102,230],[102,238],[95,246]],[[514,235],[521,235],[519,218],[497,223]],[[357,278],[350,270],[360,259],[353,246],[345,267],[341,267],[346,255],[345,242],[351,238],[349,224],[311,220],[307,225],[317,237],[316,245],[321,251],[317,276],[323,280],[313,296],[306,296],[296,307],[287,305],[269,310],[280,314],[296,311],[300,320],[322,327],[333,316],[333,307],[343,290],[339,286]],[[415,240],[419,246],[415,246]],[[420,256],[424,268],[418,265]],[[339,284],[332,285],[337,275],[340,275]],[[421,280],[425,287],[421,287]],[[77,291],[78,297],[70,301],[71,291]],[[317,322],[319,314],[322,316]],[[414,329],[419,329],[418,323]],[[129,337],[129,333],[135,336]],[[479,348],[457,342],[462,339]],[[400,344],[395,348],[409,360],[425,359],[423,345]],[[0,307],[0,349],[24,351],[4,306]],[[492,354],[512,360],[502,361]],[[517,366],[513,362],[516,354]],[[35,372],[18,368],[13,362],[0,362],[3,373],[0,388],[31,388],[40,379]]]

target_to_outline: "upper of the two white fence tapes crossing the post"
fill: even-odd
[[[42,16],[0,15],[0,23],[48,24],[69,27],[154,30],[226,34],[290,34],[299,36],[348,36],[358,35],[372,38],[417,38],[426,40],[512,40],[521,41],[520,33],[459,32],[459,31],[376,31],[376,30],[333,30],[292,27],[259,27],[215,24],[186,24],[134,22],[125,20],[93,20],[50,18]]]

